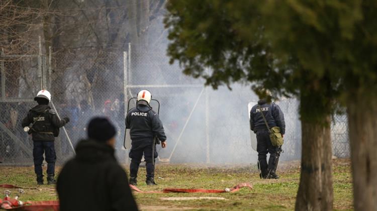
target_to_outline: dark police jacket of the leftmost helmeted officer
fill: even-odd
[[[54,141],[54,130],[66,124],[64,120],[59,120],[55,111],[48,105],[37,105],[31,109],[21,125],[26,127],[32,123],[34,123],[31,129],[33,141]]]

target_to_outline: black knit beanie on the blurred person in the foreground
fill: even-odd
[[[107,118],[103,117],[91,119],[87,128],[88,138],[99,142],[106,142],[117,133],[114,125]]]

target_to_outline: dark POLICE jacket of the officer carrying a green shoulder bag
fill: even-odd
[[[258,105],[260,108],[258,108]],[[280,107],[274,102],[266,103],[265,100],[259,100],[258,104],[254,105],[250,110],[250,129],[252,131],[267,130],[260,110],[263,112],[269,128],[277,126],[280,128],[282,135],[286,133],[284,114],[281,112]]]

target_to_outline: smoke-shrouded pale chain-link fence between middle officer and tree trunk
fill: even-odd
[[[257,101],[257,96],[250,87],[235,84],[232,90],[212,90],[202,85],[203,80],[184,76],[178,65],[168,65],[163,52],[145,49],[133,45],[128,52],[127,94],[135,96],[146,88],[160,100],[160,119],[169,145],[158,148],[160,159],[173,163],[255,163],[247,105]],[[298,102],[287,99],[278,103],[288,128],[282,159],[299,159]]]

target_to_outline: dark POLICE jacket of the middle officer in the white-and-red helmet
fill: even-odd
[[[166,141],[161,120],[147,105],[138,104],[128,112],[126,128],[130,129],[132,141],[153,140],[154,136],[162,142]]]

